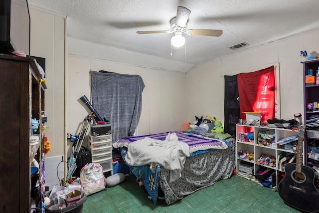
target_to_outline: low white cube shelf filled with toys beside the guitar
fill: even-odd
[[[240,140],[240,133],[247,133],[253,132],[254,139],[250,141],[242,141]],[[269,133],[269,135],[274,135],[274,142],[267,145],[263,145],[259,142],[258,133],[264,132]],[[284,149],[283,147],[279,146],[276,142],[280,141],[283,138],[287,138],[290,136],[298,136],[297,131],[292,131],[290,129],[281,129],[281,128],[270,128],[270,127],[263,127],[263,126],[248,126],[248,125],[236,125],[236,151],[237,151],[237,174],[247,179],[254,180],[254,176],[259,170],[271,170],[275,174],[276,179],[273,180],[273,186],[277,187],[278,183],[278,176],[280,172],[285,172],[284,169],[281,167],[281,159],[287,156],[296,155],[294,150]],[[239,151],[245,150],[246,153],[251,154],[253,157],[244,157],[238,154]],[[259,161],[261,156],[272,156],[273,161],[264,164],[263,161]],[[296,156],[295,156],[296,157]],[[242,171],[241,171],[242,170]],[[242,172],[242,173],[241,173]],[[252,173],[248,174],[247,173]]]

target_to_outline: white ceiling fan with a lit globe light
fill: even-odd
[[[152,34],[152,33],[174,33],[171,38],[171,44],[180,47],[185,43],[183,33],[188,35],[204,35],[219,37],[223,34],[221,29],[186,29],[190,10],[184,6],[177,7],[176,17],[170,20],[169,30],[152,30],[152,31],[137,31],[138,34]]]

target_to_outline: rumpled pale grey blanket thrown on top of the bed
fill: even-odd
[[[125,162],[130,166],[158,163],[170,170],[171,183],[180,178],[186,157],[189,157],[189,147],[186,143],[146,137],[130,144]]]

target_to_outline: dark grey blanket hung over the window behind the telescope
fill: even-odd
[[[90,71],[92,105],[111,122],[112,143],[133,136],[142,111],[145,87],[139,75]]]

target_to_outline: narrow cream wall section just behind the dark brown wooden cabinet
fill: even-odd
[[[30,5],[30,55],[45,58],[46,157],[64,155],[65,16]]]

